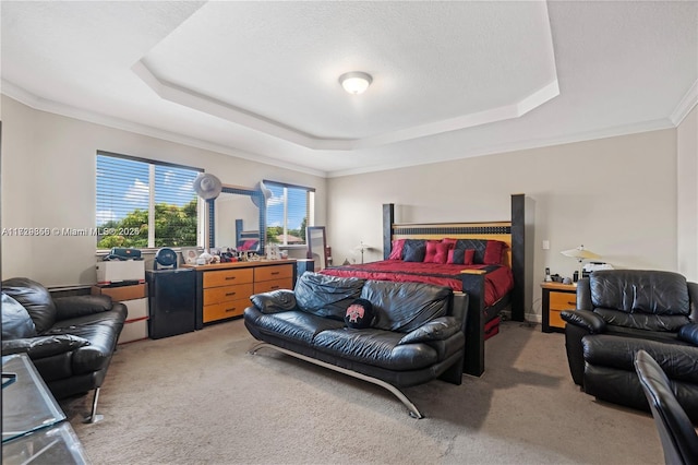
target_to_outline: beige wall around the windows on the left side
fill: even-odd
[[[316,218],[326,220],[324,178],[37,111],[2,96],[2,227],[94,227],[97,151],[203,168],[227,184],[254,188],[272,179],[315,188]],[[3,236],[2,277],[93,284],[95,246],[94,237]]]

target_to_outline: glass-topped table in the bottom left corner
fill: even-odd
[[[87,464],[65,414],[26,354],[2,357],[2,464]]]

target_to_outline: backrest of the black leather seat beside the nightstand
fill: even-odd
[[[580,279],[577,308],[617,326],[675,332],[696,320],[693,286],[673,272],[600,270]]]

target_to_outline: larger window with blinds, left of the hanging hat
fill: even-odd
[[[97,249],[201,245],[202,169],[97,153]]]

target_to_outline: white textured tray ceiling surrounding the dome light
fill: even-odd
[[[698,98],[695,1],[0,8],[4,94],[322,176],[669,128]]]

